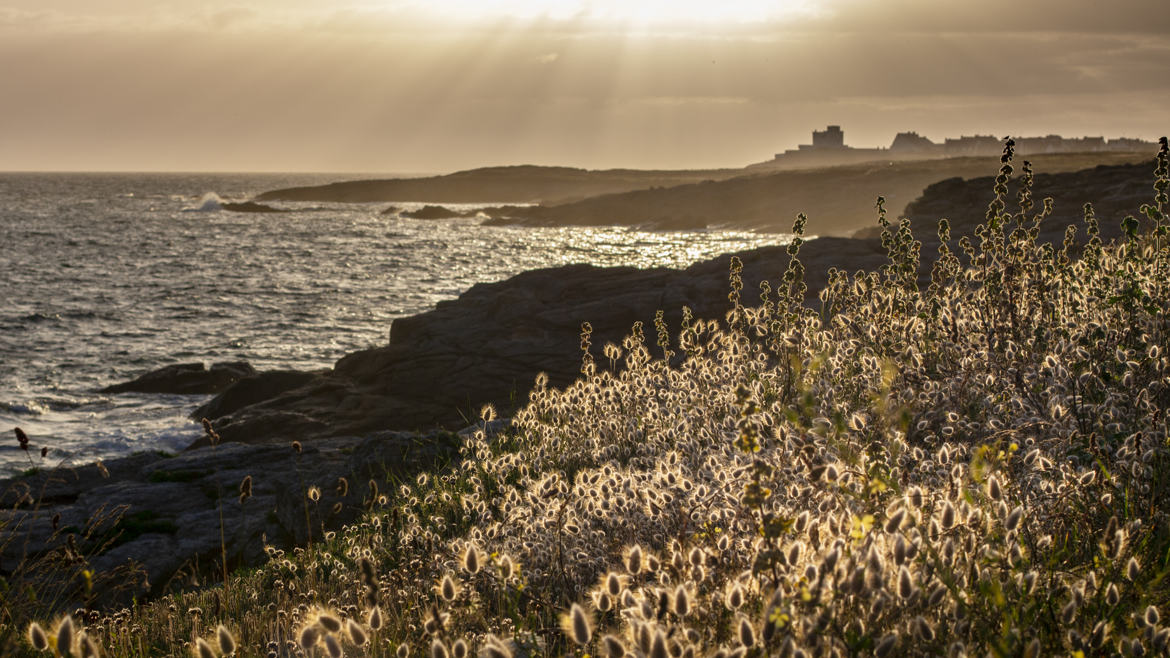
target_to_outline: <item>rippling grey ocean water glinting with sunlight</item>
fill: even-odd
[[[97,392],[163,365],[328,368],[385,344],[395,317],[477,282],[571,262],[683,267],[784,241],[401,219],[383,214],[391,204],[274,204],[291,211],[280,214],[220,206],[353,178],[0,173],[0,475],[181,451],[201,432],[187,414],[205,396]]]

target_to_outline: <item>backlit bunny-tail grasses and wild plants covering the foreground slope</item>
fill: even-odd
[[[1087,206],[1087,244],[1051,246],[1026,163],[1005,198],[1007,142],[929,283],[879,201],[888,265],[834,272],[819,310],[799,239],[756,306],[734,261],[724,322],[659,318],[656,349],[635,325],[600,359],[585,325],[577,383],[538,379],[509,431],[311,549],[0,632],[82,656],[1165,652],[1166,159],[1124,240]]]

